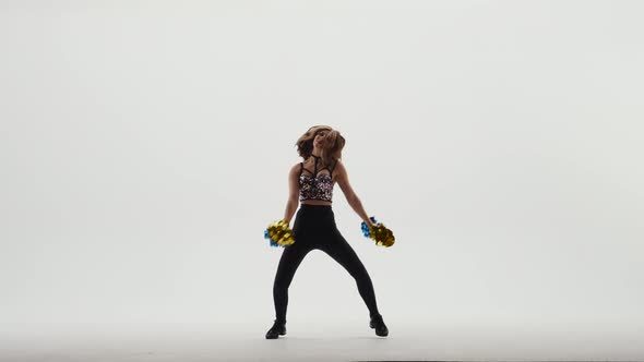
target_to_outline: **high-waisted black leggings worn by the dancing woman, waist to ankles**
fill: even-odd
[[[301,204],[293,231],[295,243],[284,249],[273,285],[277,322],[286,322],[288,287],[301,261],[313,249],[325,252],[339,263],[356,279],[358,291],[369,309],[369,315],[379,314],[371,278],[354,249],[337,230],[331,205]]]

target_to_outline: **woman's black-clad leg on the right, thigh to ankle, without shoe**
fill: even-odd
[[[365,265],[362,265],[362,262],[360,262],[351,245],[349,245],[339,231],[334,232],[331,240],[325,240],[319,249],[333,257],[333,260],[339,263],[354,277],[358,285],[360,297],[362,297],[365,304],[369,309],[369,315],[379,315],[375,292],[369,273],[367,273]]]

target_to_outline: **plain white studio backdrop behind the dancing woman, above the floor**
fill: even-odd
[[[335,188],[338,228],[397,329],[636,336],[643,10],[3,1],[0,321],[267,327],[281,250],[263,229],[284,215],[296,140],[329,124],[397,238],[367,241]],[[319,251],[289,298],[288,319],[368,317]]]

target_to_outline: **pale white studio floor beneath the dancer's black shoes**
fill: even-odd
[[[387,323],[287,324],[266,340],[260,323],[12,326],[0,360],[12,362],[143,361],[642,361],[632,330],[544,330]],[[266,324],[266,323],[265,323]]]

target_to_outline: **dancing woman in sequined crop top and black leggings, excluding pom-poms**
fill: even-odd
[[[378,312],[371,278],[337,230],[331,208],[333,185],[337,182],[351,208],[369,227],[373,226],[349,184],[346,168],[339,161],[344,145],[345,138],[339,132],[326,125],[310,128],[297,141],[303,162],[293,166],[288,174],[289,197],[284,220],[290,222],[298,207],[298,195],[301,206],[293,227],[296,242],[284,249],[275,274],[273,300],[276,319],[266,333],[267,339],[286,335],[288,287],[301,261],[313,249],[329,254],[356,279],[358,291],[369,309],[369,326],[375,329],[378,336],[389,335],[382,315]]]

